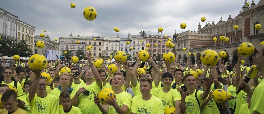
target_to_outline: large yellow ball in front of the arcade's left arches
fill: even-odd
[[[214,66],[219,61],[219,55],[216,51],[207,49],[201,54],[200,59],[204,65]]]

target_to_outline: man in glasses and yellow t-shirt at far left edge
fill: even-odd
[[[4,81],[1,84],[12,85],[15,87],[15,83],[17,84],[17,96],[22,96],[24,94],[21,84],[18,82],[14,82],[11,80],[12,74],[14,73],[14,69],[12,67],[6,66],[3,68],[2,74],[4,76]]]

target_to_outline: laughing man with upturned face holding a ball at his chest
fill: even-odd
[[[124,77],[121,72],[115,72],[112,78],[112,87],[115,92],[114,96],[111,96],[112,99],[106,101],[106,104],[101,104],[97,96],[94,96],[94,103],[97,104],[102,113],[107,114],[129,114],[131,108],[132,96],[121,89],[122,84],[124,83]]]

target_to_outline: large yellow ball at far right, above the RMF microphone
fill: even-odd
[[[249,42],[243,42],[238,46],[237,51],[241,56],[248,57],[254,53],[255,47]]]

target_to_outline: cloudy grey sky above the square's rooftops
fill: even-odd
[[[255,0],[258,4],[260,0]],[[244,0],[1,0],[0,8],[18,16],[19,20],[35,27],[35,34],[47,30],[51,39],[77,36],[127,37],[140,31],[158,32],[172,36],[185,30],[198,30],[201,17],[206,22],[216,24],[222,17],[235,18],[244,5]],[[252,1],[247,1],[250,4]],[[75,3],[76,8],[70,4]],[[92,6],[97,10],[97,18],[86,20],[84,8]],[[180,23],[187,28],[181,29]],[[204,27],[206,22],[201,22]],[[120,31],[114,32],[118,27]]]

